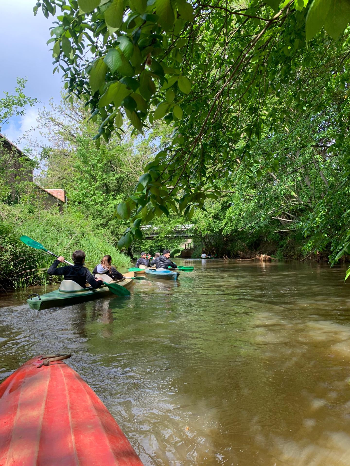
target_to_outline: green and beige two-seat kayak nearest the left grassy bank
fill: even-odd
[[[118,283],[118,285],[126,288],[130,288],[133,284],[133,272],[128,272],[124,274],[127,278],[125,280],[110,281],[111,283]],[[107,277],[108,278],[108,277]],[[56,306],[69,306],[71,304],[76,304],[78,302],[91,301],[93,299],[102,298],[104,296],[111,295],[112,292],[102,285],[101,288],[81,288],[79,285],[75,284],[76,288],[80,289],[69,289],[69,287],[63,287],[63,283],[70,282],[70,280],[63,280],[61,282],[60,288],[45,295],[30,295],[27,299],[29,307],[31,309],[46,309]],[[74,282],[72,283],[74,288]],[[68,289],[67,289],[68,288]],[[0,463],[1,464],[1,463]]]

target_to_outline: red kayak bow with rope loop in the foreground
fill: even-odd
[[[55,359],[37,356],[0,385],[0,465],[142,466],[96,393]]]

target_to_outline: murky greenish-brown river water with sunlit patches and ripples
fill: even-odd
[[[180,263],[181,261],[179,261]],[[193,260],[178,281],[34,311],[1,296],[0,379],[68,360],[147,466],[348,466],[350,285],[344,268]]]

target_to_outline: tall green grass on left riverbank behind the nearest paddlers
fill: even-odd
[[[82,249],[86,254],[85,265],[90,270],[105,254],[112,256],[117,269],[123,271],[130,267],[130,259],[110,243],[105,232],[94,231],[89,219],[79,213],[36,212],[31,206],[0,204],[0,291],[61,280],[46,274],[54,258],[23,244],[21,235],[42,243],[69,262],[71,254]]]

